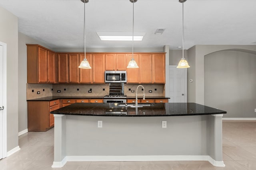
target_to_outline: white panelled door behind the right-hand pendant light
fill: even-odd
[[[169,66],[169,103],[187,102],[187,68]]]

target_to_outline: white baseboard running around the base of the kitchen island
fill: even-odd
[[[212,165],[225,167],[223,161],[216,161],[209,155],[148,155],[148,156],[66,156],[61,162],[53,162],[52,168],[61,168],[68,161],[182,161],[205,160]]]

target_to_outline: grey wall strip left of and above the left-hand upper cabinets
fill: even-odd
[[[18,131],[28,128],[28,110],[26,98],[27,83],[27,46],[26,44],[39,44],[48,49],[47,45],[28,37],[23,33],[18,33]]]

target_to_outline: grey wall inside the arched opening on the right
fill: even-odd
[[[256,117],[256,55],[218,51],[204,57],[204,104],[224,117]]]

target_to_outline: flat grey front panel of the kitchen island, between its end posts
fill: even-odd
[[[98,120],[103,121],[102,128],[97,127]],[[167,128],[162,128],[162,121],[167,121]],[[66,115],[66,155],[208,155],[208,121],[208,115]]]

